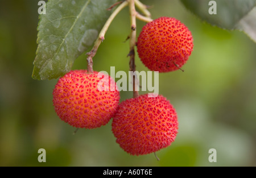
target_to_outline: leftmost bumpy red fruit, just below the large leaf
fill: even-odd
[[[106,81],[109,89],[100,91],[100,81],[100,84]],[[110,76],[98,77],[98,72],[89,74],[85,70],[65,74],[53,89],[57,115],[77,128],[93,129],[106,125],[118,109],[119,98],[115,81]]]

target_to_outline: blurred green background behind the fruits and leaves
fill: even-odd
[[[0,166],[255,166],[256,44],[239,31],[202,23],[178,0],[142,1],[152,18],[172,16],[191,30],[195,47],[183,69],[159,74],[159,94],[176,108],[179,133],[170,147],[131,156],[108,125],[94,130],[61,121],[52,106],[57,80],[32,80],[38,1],[0,0]],[[138,33],[144,22],[138,22]],[[94,70],[129,70],[127,8],[114,19],[94,57]],[[136,58],[138,71],[148,71]],[[86,56],[73,69],[85,69]],[[145,92],[141,92],[145,93]],[[121,92],[121,101],[132,92]],[[46,150],[46,163],[38,150]],[[210,148],[217,163],[210,163]]]

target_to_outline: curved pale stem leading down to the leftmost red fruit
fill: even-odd
[[[87,62],[88,62],[88,72],[89,73],[93,73],[93,57],[96,55],[96,52],[98,50],[98,47],[100,46],[101,42],[103,42],[103,40],[105,39],[105,34],[106,31],[108,31],[108,28],[110,26],[110,24],[112,23],[112,21],[114,20],[115,16],[117,16],[117,14],[126,6],[128,5],[127,1],[123,1],[121,3],[121,5],[119,5],[117,7],[117,9],[115,9],[113,11],[113,13],[109,16],[109,19],[106,21],[106,23],[104,24],[100,34],[98,35],[97,40],[94,42],[94,46],[92,48],[92,50],[88,53],[86,53],[86,55],[88,55],[87,57]]]

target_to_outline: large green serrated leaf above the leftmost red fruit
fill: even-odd
[[[32,78],[63,76],[97,39],[117,0],[50,0],[39,16],[38,49]]]

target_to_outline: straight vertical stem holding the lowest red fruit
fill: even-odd
[[[134,0],[129,0],[129,9],[130,9],[130,16],[131,16],[131,34],[130,34],[130,71],[133,73],[136,70],[135,65],[135,51],[134,47],[136,45],[136,15],[137,11],[135,9],[135,3]],[[136,98],[139,96],[139,92],[137,91],[137,78],[135,78],[135,75],[133,75],[133,97]]]

